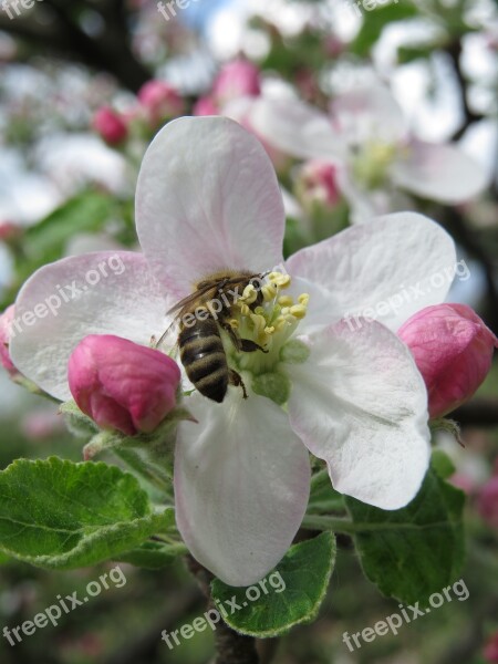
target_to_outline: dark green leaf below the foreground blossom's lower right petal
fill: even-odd
[[[433,469],[404,509],[384,511],[346,498],[365,575],[384,595],[427,605],[432,593],[454,582],[463,571],[464,504],[463,491]]]

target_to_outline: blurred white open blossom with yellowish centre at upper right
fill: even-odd
[[[237,108],[227,114],[238,120]],[[288,155],[335,163],[354,221],[402,205],[398,190],[453,205],[488,184],[485,170],[458,146],[412,136],[401,107],[378,82],[339,95],[330,115],[297,98],[262,95],[246,104],[245,120]]]

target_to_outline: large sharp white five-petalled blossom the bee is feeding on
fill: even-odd
[[[227,270],[267,273],[261,307],[242,293],[232,308],[242,338],[267,353],[236,352],[229,365],[248,398],[229,387],[221,404],[194,391],[175,453],[177,525],[191,553],[231,585],[261,579],[290,546],[309,498],[309,453],[334,487],[383,509],[417,494],[429,459],[427,394],[400,325],[449,288],[425,288],[384,319],[351,331],[363,311],[404,283],[427,287],[454,270],[450,237],[422,215],[380,218],[305,248],[283,263],[284,211],[261,144],[225,117],[180,118],[149,146],[136,195],[144,255],[123,252],[126,270],[72,300],[55,319],[14,339],[21,371],[60,400],[70,396],[68,360],[87,334],[148,345],[164,312],[193,286]],[[79,256],[41,268],[23,286],[22,313],[58,283],[102,261]],[[273,294],[271,294],[271,292]],[[166,304],[166,302],[167,304]],[[282,404],[286,407],[282,407]]]

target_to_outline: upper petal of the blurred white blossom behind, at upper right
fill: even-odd
[[[398,143],[406,137],[403,112],[391,91],[380,83],[339,95],[331,113],[335,129],[351,144]]]

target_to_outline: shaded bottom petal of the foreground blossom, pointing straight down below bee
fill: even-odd
[[[193,556],[230,585],[262,579],[305,512],[310,463],[273,402],[230,390],[216,405],[194,395],[175,453],[176,518]]]

